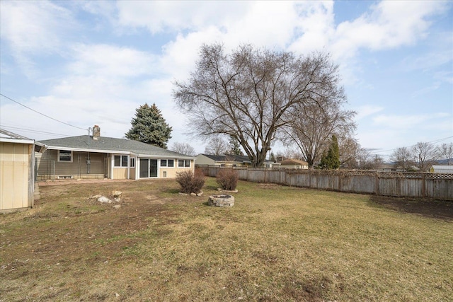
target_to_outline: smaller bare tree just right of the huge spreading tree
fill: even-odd
[[[285,141],[297,145],[306,158],[309,167],[319,161],[336,134],[339,141],[352,139],[356,124],[352,120],[355,112],[343,110],[345,95],[339,92],[324,100],[318,98],[316,103],[302,103],[295,106],[289,114],[294,115],[287,127],[283,127]]]

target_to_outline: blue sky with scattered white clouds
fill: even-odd
[[[202,153],[172,91],[212,43],[331,54],[355,138],[379,156],[453,141],[452,1],[2,0],[0,127],[39,141],[97,124],[122,138],[155,103],[168,146]]]

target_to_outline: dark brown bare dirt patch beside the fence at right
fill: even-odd
[[[405,213],[419,214],[426,217],[453,220],[453,202],[438,200],[403,199],[396,197],[372,196],[372,202]]]

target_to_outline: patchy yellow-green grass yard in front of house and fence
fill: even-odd
[[[239,182],[40,187],[0,214],[0,301],[451,301],[452,203]],[[120,209],[88,197],[122,191]]]

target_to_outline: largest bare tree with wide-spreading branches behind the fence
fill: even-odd
[[[289,122],[287,111],[343,95],[338,66],[328,55],[295,57],[250,45],[229,55],[222,45],[203,45],[188,83],[175,86],[173,97],[188,115],[191,133],[234,137],[253,167],[263,165],[277,130]]]

